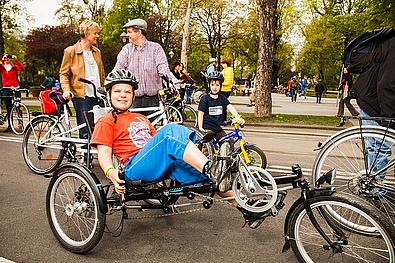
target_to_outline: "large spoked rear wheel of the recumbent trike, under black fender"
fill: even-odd
[[[106,214],[99,208],[97,186],[77,168],[63,168],[49,183],[46,209],[49,225],[70,252],[86,253],[100,241]]]

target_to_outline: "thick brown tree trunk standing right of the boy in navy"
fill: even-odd
[[[255,116],[272,115],[272,78],[275,12],[278,0],[256,0],[259,20],[259,49],[255,80]]]

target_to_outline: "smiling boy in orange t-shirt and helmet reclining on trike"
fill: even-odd
[[[181,184],[211,180],[215,161],[208,160],[194,144],[195,133],[188,128],[168,124],[156,132],[149,120],[141,114],[129,112],[138,82],[131,72],[115,70],[105,80],[107,97],[113,110],[95,125],[91,144],[97,147],[98,160],[106,177],[117,193],[125,192],[125,181],[113,166],[112,154],[125,161],[125,180],[158,181],[165,175]],[[217,185],[216,185],[217,187]],[[232,192],[218,192],[221,197]],[[231,201],[237,206],[235,200]],[[239,208],[251,228],[263,221],[262,214]]]

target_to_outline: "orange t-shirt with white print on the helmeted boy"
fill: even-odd
[[[117,114],[117,123],[114,123],[114,117],[110,112],[96,123],[91,144],[111,147],[118,160],[123,158],[123,161],[127,162],[155,134],[154,126],[144,115],[124,112]]]

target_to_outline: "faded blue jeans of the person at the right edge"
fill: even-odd
[[[361,110],[360,117],[370,117],[366,112]],[[375,120],[362,120],[362,125],[380,126]],[[368,161],[368,173],[372,173],[385,167],[391,157],[392,143],[380,139],[368,138],[366,142],[366,153]],[[384,179],[386,171],[380,173],[380,178]]]

